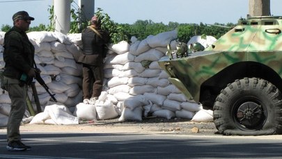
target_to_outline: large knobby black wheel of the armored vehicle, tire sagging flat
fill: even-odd
[[[224,135],[281,134],[281,92],[260,78],[236,80],[214,102],[214,124]]]

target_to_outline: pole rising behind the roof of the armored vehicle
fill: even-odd
[[[249,0],[249,15],[251,17],[271,15],[270,0]]]

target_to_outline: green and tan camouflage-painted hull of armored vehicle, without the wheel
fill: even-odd
[[[201,84],[236,62],[260,62],[282,77],[282,17],[240,19],[204,51],[185,58],[162,58],[159,65],[188,99],[199,100]]]

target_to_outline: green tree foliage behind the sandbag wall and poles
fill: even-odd
[[[74,1],[72,1],[74,3]],[[54,31],[54,6],[49,6],[49,24],[45,26],[40,24],[39,26],[29,28],[29,31]],[[89,25],[88,21],[83,21],[80,17],[81,10],[72,8],[70,11],[70,33],[81,33],[82,29]],[[178,41],[187,43],[194,35],[212,35],[217,39],[224,35],[230,28],[233,28],[235,24],[179,24],[178,22],[169,22],[169,24],[155,23],[152,20],[137,20],[134,24],[118,24],[111,20],[111,17],[104,13],[101,8],[97,8],[95,15],[101,20],[102,30],[108,31],[111,37],[111,43],[116,44],[120,41],[130,42],[132,36],[138,40],[146,39],[149,35],[157,35],[166,31],[178,31]],[[12,26],[2,25],[1,31],[8,31]]]

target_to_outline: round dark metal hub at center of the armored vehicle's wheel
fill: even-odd
[[[263,120],[263,109],[258,103],[252,101],[242,103],[237,110],[237,119],[242,126],[254,128]]]

